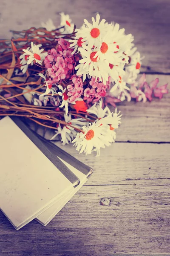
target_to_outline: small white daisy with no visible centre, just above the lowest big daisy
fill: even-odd
[[[91,108],[87,109],[87,112],[96,115],[99,119],[105,117],[108,112],[108,106],[106,106],[103,109],[102,104],[103,104],[103,102],[101,99],[99,102],[95,102],[95,104],[92,105]]]

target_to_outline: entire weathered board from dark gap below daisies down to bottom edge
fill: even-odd
[[[94,174],[47,227],[16,232],[0,212],[0,256],[168,255],[170,144],[115,143],[100,157],[62,148]]]

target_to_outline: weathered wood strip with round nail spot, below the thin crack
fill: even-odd
[[[169,196],[169,186],[154,183],[83,186],[46,227],[32,221],[19,232],[0,213],[1,255],[168,255]],[[109,198],[110,205],[101,205],[102,198]]]

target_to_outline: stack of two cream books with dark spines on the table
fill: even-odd
[[[0,209],[16,230],[47,225],[92,172],[17,117],[0,120]]]

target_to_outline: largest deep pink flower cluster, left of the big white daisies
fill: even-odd
[[[77,55],[71,55],[73,49],[69,48],[70,43],[68,41],[63,38],[56,39],[56,41],[58,41],[57,49],[51,49],[44,60],[53,84],[62,79],[69,79],[74,74],[76,61],[79,61]]]

